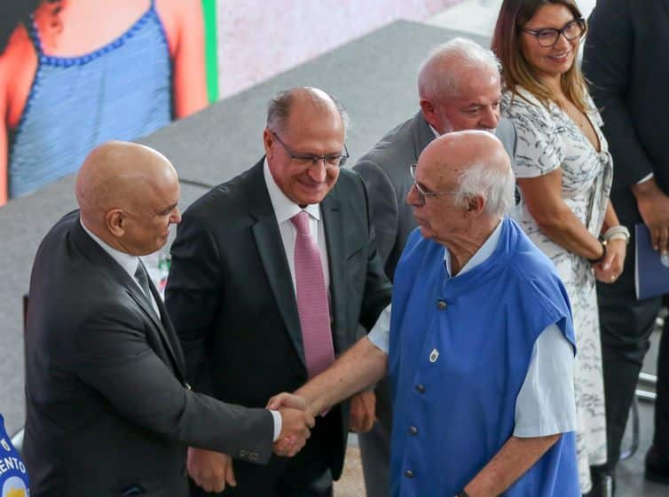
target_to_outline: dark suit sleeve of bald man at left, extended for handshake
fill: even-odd
[[[121,304],[91,312],[75,331],[76,373],[122,416],[196,446],[266,462],[273,420],[187,390],[146,339],[146,317]]]

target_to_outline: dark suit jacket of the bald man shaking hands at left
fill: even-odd
[[[186,445],[269,459],[272,414],[187,390],[177,336],[156,301],[161,319],[78,211],[44,238],[26,336],[23,447],[33,496],[111,497],[133,487],[186,496]]]

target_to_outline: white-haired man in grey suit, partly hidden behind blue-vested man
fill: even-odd
[[[458,130],[491,131],[512,159],[516,150],[513,124],[500,120],[500,62],[478,43],[459,37],[432,50],[419,71],[418,96],[421,110],[390,130],[354,168],[369,190],[376,242],[391,280],[406,239],[416,227],[405,203],[412,185],[407,165],[416,162],[432,140]],[[369,433],[359,435],[360,452],[367,495],[387,497],[392,413],[385,380],[375,391],[378,422]],[[374,405],[372,392],[359,397],[363,399]],[[358,400],[352,408],[362,410]],[[367,419],[372,421],[353,428],[369,430],[373,411]]]

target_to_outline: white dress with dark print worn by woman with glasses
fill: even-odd
[[[609,201],[613,168],[602,118],[587,97],[587,117],[599,139],[600,151],[559,106],[543,106],[518,87],[502,98],[502,115],[516,126],[516,177],[539,177],[562,170],[562,197],[593,236],[599,236]],[[602,379],[602,348],[594,272],[588,261],[568,252],[539,229],[526,206],[516,220],[532,241],[555,264],[571,301],[577,355],[574,382],[577,411],[578,477],[581,490],[590,490],[590,465],[606,462],[606,418]]]

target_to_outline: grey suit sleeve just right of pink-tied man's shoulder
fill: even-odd
[[[395,247],[399,229],[397,193],[388,174],[376,162],[362,158],[353,169],[365,180],[376,234],[376,248],[385,266]]]

